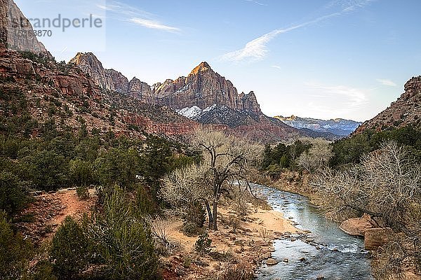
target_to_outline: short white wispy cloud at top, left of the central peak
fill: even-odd
[[[152,13],[148,13],[145,10],[140,10],[119,1],[107,1],[106,6],[98,5],[98,8],[107,10],[109,13],[113,13],[116,15],[118,20],[132,22],[136,25],[140,25],[149,29],[159,29],[169,32],[181,31],[181,29],[178,27],[166,25],[159,22],[158,20],[155,20]]]

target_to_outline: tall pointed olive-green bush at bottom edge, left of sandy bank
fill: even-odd
[[[154,279],[158,266],[154,240],[147,225],[137,218],[123,190],[115,188],[105,198],[103,212],[88,225],[98,244],[103,277],[109,279]]]

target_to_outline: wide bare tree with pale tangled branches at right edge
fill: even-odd
[[[399,271],[403,260],[421,264],[421,167],[405,148],[386,142],[345,172],[321,170],[312,186],[323,197],[321,204],[330,218],[340,221],[367,213],[380,226],[402,233],[396,235],[402,240],[384,248],[385,252],[394,248],[395,253],[388,254],[389,259],[383,262],[394,265],[394,269],[380,267],[382,272]]]

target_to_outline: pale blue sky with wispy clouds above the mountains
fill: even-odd
[[[202,61],[268,116],[368,120],[421,75],[419,0],[15,0],[27,18],[100,19],[41,36],[149,85]]]

